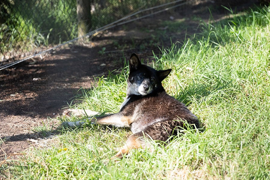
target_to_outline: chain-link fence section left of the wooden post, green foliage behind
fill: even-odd
[[[1,64],[76,37],[75,0],[0,2]]]

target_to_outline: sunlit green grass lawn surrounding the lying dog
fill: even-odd
[[[132,150],[105,165],[128,129],[64,128],[46,148],[7,161],[0,171],[10,179],[269,179],[269,16],[269,8],[256,8],[226,23],[205,24],[194,39],[154,55],[151,66],[173,68],[164,87],[198,116],[203,132],[187,132],[166,147],[152,142],[152,151]],[[92,89],[79,91],[76,107],[117,112],[127,72],[126,65],[97,78]]]

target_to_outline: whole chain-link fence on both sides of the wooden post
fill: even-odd
[[[181,6],[187,1],[91,0],[94,31],[87,35]],[[0,23],[0,70],[78,39],[76,0],[4,0],[0,2]]]

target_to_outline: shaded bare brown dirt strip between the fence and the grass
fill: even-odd
[[[238,4],[237,7],[241,10],[252,3]],[[6,158],[13,158],[14,153],[36,146],[35,142],[44,138],[38,131],[33,131],[35,127],[49,124],[55,129],[59,122],[47,118],[61,115],[79,88],[91,88],[94,76],[106,76],[108,70],[122,67],[123,57],[128,59],[133,52],[152,61],[152,50],[157,54],[160,52],[157,45],[170,46],[170,38],[173,42],[182,42],[186,33],[188,36],[199,32],[200,19],[196,17],[208,22],[208,8],[215,8],[211,13],[216,20],[226,17],[228,12],[220,7],[216,9],[211,1],[200,1],[192,7],[109,29],[90,42],[55,49],[42,55],[42,59],[30,59],[0,71],[0,164]],[[167,31],[166,37],[150,43],[151,35],[158,29],[169,29],[161,27],[161,22],[179,19],[184,19],[180,31]],[[103,47],[106,47],[104,51]]]

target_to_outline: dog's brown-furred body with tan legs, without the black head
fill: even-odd
[[[125,127],[131,128],[134,133],[113,159],[122,158],[122,154],[128,154],[130,149],[145,148],[144,138],[141,137],[165,142],[170,136],[177,135],[177,129],[186,128],[187,125],[184,124],[189,124],[190,128],[199,128],[196,116],[165,91],[155,96],[131,99],[133,102],[119,113],[92,120],[95,124],[116,125],[121,117],[121,122],[128,125]]]

